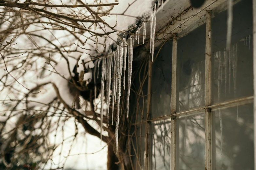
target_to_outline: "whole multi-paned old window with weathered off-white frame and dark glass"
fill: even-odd
[[[252,0],[233,5],[230,50],[220,2],[180,15],[155,52],[145,169],[254,169]]]

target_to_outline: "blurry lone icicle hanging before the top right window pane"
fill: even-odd
[[[231,45],[232,21],[233,21],[233,0],[229,0],[228,1],[228,20],[227,20],[227,44],[226,44],[227,50],[230,50],[230,45]]]

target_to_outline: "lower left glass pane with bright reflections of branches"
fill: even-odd
[[[171,120],[153,123],[153,170],[170,170]]]

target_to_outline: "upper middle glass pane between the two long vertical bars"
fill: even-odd
[[[178,40],[177,111],[204,106],[205,24]]]

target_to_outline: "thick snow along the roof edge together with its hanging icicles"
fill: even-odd
[[[154,55],[154,36],[155,36],[155,26],[156,26],[156,8],[160,5],[162,6],[163,0],[158,1],[157,4],[154,4],[154,9],[152,10],[152,0],[120,0],[118,6],[114,6],[110,12],[109,16],[101,17],[109,26],[104,26],[103,23],[100,27],[94,30],[95,33],[105,34],[106,32],[113,32],[118,30],[118,32],[113,32],[109,35],[97,36],[97,38],[87,38],[92,37],[89,32],[85,32],[84,35],[81,35],[79,38],[84,44],[79,45],[80,51],[71,52],[68,55],[64,56],[63,59],[55,66],[55,70],[58,74],[52,74],[49,78],[41,80],[42,83],[51,82],[56,84],[60,97],[63,101],[70,107],[74,107],[74,96],[69,92],[68,81],[71,77],[74,76],[73,68],[77,64],[77,73],[79,76],[82,74],[83,81],[86,81],[86,84],[90,83],[94,79],[94,99],[97,95],[97,79],[99,78],[100,64],[101,64],[101,89],[100,89],[100,138],[102,138],[102,128],[103,128],[103,112],[104,112],[104,99],[107,103],[107,117],[109,117],[110,110],[110,101],[112,101],[112,124],[113,124],[113,112],[114,105],[116,104],[116,145],[118,146],[118,125],[119,125],[119,116],[120,116],[120,95],[121,95],[121,83],[122,79],[125,79],[126,76],[126,61],[128,58],[128,82],[127,82],[127,117],[129,113],[129,94],[131,87],[131,75],[132,75],[132,61],[133,61],[133,42],[134,34],[139,44],[140,39],[140,29],[143,29],[141,36],[142,43],[144,44],[146,38],[146,20],[151,19],[150,21],[150,52],[152,54],[152,60]],[[143,8],[141,8],[143,6]],[[117,14],[128,15],[117,15]],[[112,15],[111,15],[112,14]],[[140,24],[136,23],[137,18],[131,17],[137,16],[142,17],[142,22]],[[130,25],[134,25],[136,30],[134,32],[128,32],[126,37],[120,39],[120,34],[122,30],[129,30]],[[105,29],[102,29],[102,28]],[[134,28],[134,26],[133,26]],[[121,32],[120,32],[121,31]],[[116,50],[110,50],[111,46],[116,45]],[[70,50],[74,51],[77,49],[77,45],[72,45]],[[83,52],[80,55],[80,52]],[[127,57],[128,53],[128,57]],[[107,55],[107,56],[106,56]],[[98,59],[97,59],[98,58]],[[78,63],[77,63],[78,60]],[[66,68],[69,69],[66,69]],[[96,73],[97,72],[97,73]],[[112,72],[112,76],[111,76]],[[122,72],[124,72],[124,77],[122,77]],[[97,74],[97,75],[96,75]],[[60,76],[61,75],[61,76]],[[105,85],[106,80],[106,85]],[[112,80],[112,90],[111,90],[111,80]],[[37,81],[40,82],[40,80]],[[125,80],[123,81],[123,86],[125,90]],[[106,89],[106,93],[104,93]],[[49,103],[49,99],[54,99],[57,97],[55,90],[49,90],[50,94],[47,97],[34,99],[40,102]],[[112,97],[111,97],[112,92]],[[104,94],[106,95],[104,97]],[[36,106],[35,103],[29,103],[29,106]],[[117,147],[116,146],[116,147]],[[118,147],[117,147],[118,149]]]

